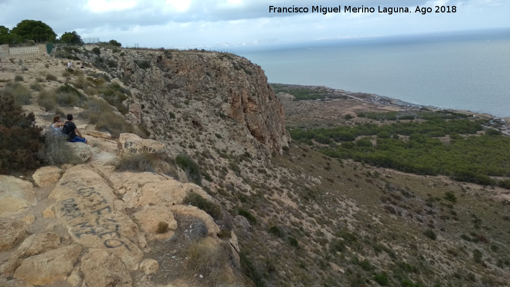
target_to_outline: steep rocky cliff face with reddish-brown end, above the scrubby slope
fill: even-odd
[[[258,153],[265,147],[282,154],[288,146],[283,105],[260,66],[230,54],[198,51],[150,52],[144,57],[120,58],[117,71],[124,83],[143,93],[139,104],[153,136],[169,139],[171,123],[172,129],[188,125],[214,130],[220,136],[213,140],[235,147],[235,153]]]

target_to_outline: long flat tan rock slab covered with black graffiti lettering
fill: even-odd
[[[75,242],[115,254],[129,270],[138,268],[143,253],[134,243],[138,226],[113,207],[113,189],[89,165],[68,169],[50,198],[55,215]]]

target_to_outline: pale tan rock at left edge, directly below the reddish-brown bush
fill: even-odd
[[[0,175],[0,213],[37,204],[34,185],[13,176]]]

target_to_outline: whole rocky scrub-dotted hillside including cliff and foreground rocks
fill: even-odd
[[[84,61],[84,69],[66,71],[68,59]],[[15,82],[15,76],[21,78]],[[20,180],[36,183],[37,204],[1,213],[2,229],[17,230],[0,253],[5,285],[42,284],[27,279],[30,272],[19,276],[18,269],[31,255],[58,249],[73,256],[50,286],[99,286],[92,283],[93,262],[113,262],[120,271],[111,278],[131,279],[112,281],[119,286],[505,286],[510,281],[510,198],[505,189],[374,168],[292,142],[285,113],[293,126],[305,119],[304,125],[337,123],[333,119],[335,114],[343,117],[342,105],[323,113],[329,103],[283,100],[284,110],[263,70],[247,59],[196,50],[67,47],[48,59],[2,59],[0,88],[12,83],[29,89],[31,104],[23,108],[35,113],[41,127],[55,113],[78,115],[77,125],[90,131],[94,149],[84,164],[59,165],[58,181],[42,186],[32,174]],[[61,93],[65,83],[78,93],[69,88]],[[337,100],[347,101],[381,110],[373,103]],[[114,171],[124,153],[123,133],[163,144],[157,173]],[[69,185],[76,174],[87,178]],[[100,247],[101,241],[84,242],[77,228],[90,226],[72,221],[73,214],[66,217],[66,206],[59,209],[59,203],[80,198],[73,195],[77,190],[92,186],[101,190],[94,200],[105,201],[115,217],[104,218],[94,209],[97,213],[87,222],[115,229],[120,227],[112,220],[122,221],[122,228],[105,232],[114,232],[109,236],[117,237],[108,239],[117,243],[130,242],[130,254]],[[180,187],[166,191],[171,186]],[[184,198],[190,188],[184,186],[221,206],[222,215],[210,217],[188,205]],[[144,201],[158,190],[171,200]],[[47,216],[48,207],[55,217]],[[152,238],[157,230],[144,229],[140,217],[147,209],[160,216],[175,214],[173,233]],[[35,221],[22,221],[32,217]],[[192,232],[193,224],[198,233]],[[190,232],[191,239],[186,237]],[[30,235],[40,234],[46,236],[39,240],[43,247],[31,254],[20,251]],[[48,236],[59,239],[52,245]],[[225,247],[228,241],[233,248]],[[195,255],[198,259],[186,264],[193,255],[191,243],[201,244],[203,257]],[[221,252],[207,257],[216,246]],[[154,264],[145,260],[155,260],[159,268],[153,272],[140,265]],[[223,272],[232,276],[216,276]]]

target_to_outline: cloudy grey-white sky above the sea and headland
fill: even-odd
[[[342,13],[312,13],[312,6]],[[270,13],[269,7],[302,7],[308,13]],[[375,7],[344,13],[344,6]],[[411,13],[378,13],[378,6]],[[432,13],[415,13],[416,7]],[[433,13],[435,6],[455,13]],[[261,41],[384,36],[510,27],[510,0],[0,0],[0,25],[41,20],[58,36],[115,39],[122,46],[183,47]]]

